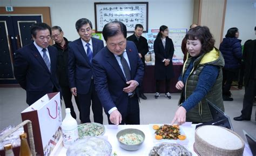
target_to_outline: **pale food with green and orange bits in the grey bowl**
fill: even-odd
[[[121,141],[126,145],[136,145],[136,144],[142,143],[143,137],[140,134],[127,133],[127,134],[121,135],[121,137],[119,138],[119,141]]]

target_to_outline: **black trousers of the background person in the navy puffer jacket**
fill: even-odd
[[[239,69],[223,69],[223,95],[228,96],[235,74]]]

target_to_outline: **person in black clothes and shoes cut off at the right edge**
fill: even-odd
[[[245,96],[241,116],[235,117],[234,120],[236,121],[251,120],[252,116],[252,106],[256,94],[256,39],[245,42],[242,57],[245,62]]]

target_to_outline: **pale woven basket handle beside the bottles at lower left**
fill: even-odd
[[[31,153],[33,156],[36,156],[36,148],[35,148],[35,143],[34,143],[34,138],[33,138],[33,131],[32,131],[32,124],[30,120],[25,120],[15,128],[12,128],[10,131],[4,133],[0,137],[0,141],[3,141],[6,137],[8,137],[10,134],[14,133],[17,131],[19,128],[23,127],[24,125],[28,124],[28,131],[29,131],[29,143],[30,143],[30,148],[31,148]]]

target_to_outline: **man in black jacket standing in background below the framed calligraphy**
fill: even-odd
[[[145,66],[145,55],[149,52],[149,44],[147,44],[147,39],[142,36],[143,33],[143,25],[136,24],[133,35],[127,37],[127,40],[131,40],[135,43],[139,57],[142,59],[142,62]],[[139,97],[146,100],[147,97],[144,95],[143,92],[143,85],[139,87]]]

